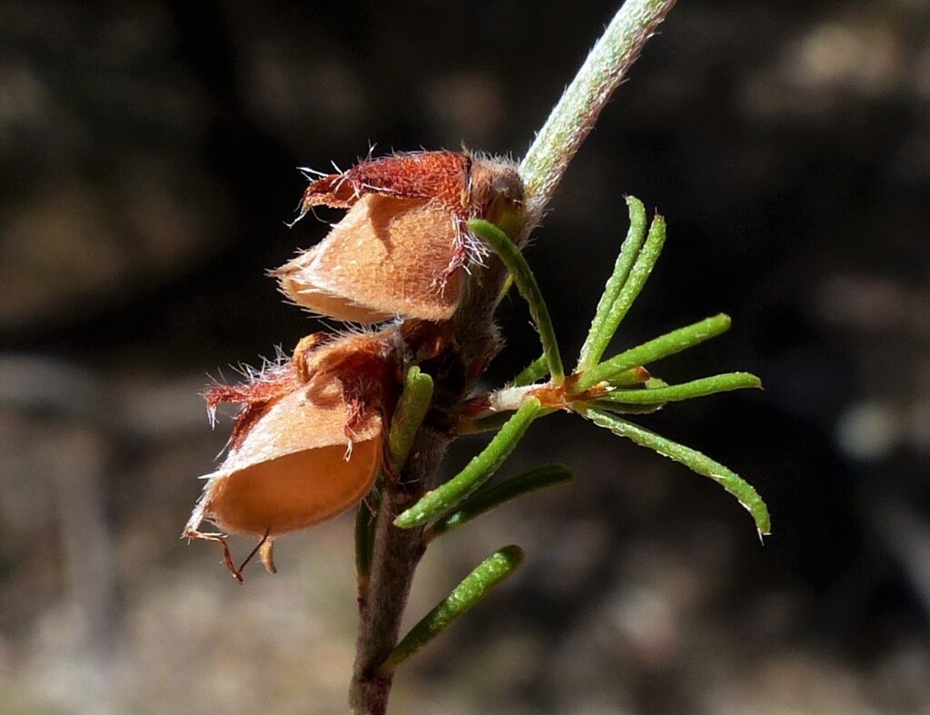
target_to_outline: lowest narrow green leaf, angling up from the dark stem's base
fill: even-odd
[[[523,549],[517,546],[505,546],[479,563],[474,571],[465,576],[443,601],[437,603],[430,613],[423,616],[419,623],[410,629],[410,632],[394,648],[392,654],[381,664],[379,674],[390,675],[408,657],[419,651],[485,598],[491,589],[510,576],[523,563],[523,560]]]

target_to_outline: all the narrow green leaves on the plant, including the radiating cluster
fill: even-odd
[[[478,422],[472,424],[472,429],[493,426],[498,430],[485,449],[473,457],[456,476],[428,492],[394,519],[394,525],[399,528],[425,527],[424,547],[433,538],[469,523],[512,499],[572,479],[571,471],[564,465],[546,464],[503,482],[487,484],[512,454],[533,421],[556,409],[575,412],[598,427],[626,437],[635,444],[684,464],[697,474],[709,477],[737,497],[739,503],[750,512],[760,536],[769,534],[769,514],[762,497],[734,471],[691,447],[673,442],[631,422],[627,417],[621,417],[653,412],[669,403],[718,392],[760,388],[762,384],[758,377],[742,372],[699,377],[674,385],[652,377],[651,364],[724,333],[730,327],[730,319],[724,314],[672,330],[604,359],[604,353],[617,333],[619,324],[643,290],[665,244],[665,220],[656,216],[650,223],[644,205],[636,198],[628,197],[627,205],[630,230],[604,287],[604,295],[591,321],[591,329],[581,348],[578,364],[570,375],[565,373],[562,351],[555,337],[549,310],[533,271],[520,249],[494,224],[481,219],[469,222],[472,233],[503,261],[510,271],[513,284],[529,304],[538,328],[542,355],[514,377],[508,386],[509,391],[517,391],[521,396],[519,404],[505,407],[502,413],[485,416],[480,426],[475,426]],[[553,396],[558,397],[554,402]],[[392,470],[399,470],[403,466],[431,398],[432,379],[420,373],[419,368],[411,367],[406,375],[405,391],[392,420],[388,440]],[[502,421],[508,410],[510,416]],[[371,531],[376,509],[377,505],[371,502],[364,503],[359,509],[356,561],[360,579],[367,577],[367,569],[370,567]],[[390,672],[430,642],[509,576],[522,560],[523,551],[516,546],[499,549],[488,556],[443,602],[437,604],[407,633],[381,669]]]

